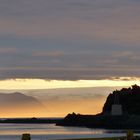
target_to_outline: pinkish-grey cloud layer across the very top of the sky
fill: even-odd
[[[1,3],[2,9],[8,9],[9,15],[1,12],[1,34],[140,44],[138,1],[41,0],[15,1],[11,5],[4,1]],[[25,20],[20,16],[25,16]]]

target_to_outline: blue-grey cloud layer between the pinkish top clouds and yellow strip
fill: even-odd
[[[24,50],[25,49],[25,50]],[[32,47],[3,50],[0,56],[0,78],[41,78],[57,80],[108,79],[139,77],[139,54],[129,51],[65,49],[64,51],[33,51]],[[43,51],[44,50],[44,51]],[[10,52],[9,52],[10,51]],[[13,52],[16,52],[14,50]],[[4,55],[5,53],[6,55]],[[9,52],[9,53],[8,53]],[[131,67],[131,68],[130,68]]]

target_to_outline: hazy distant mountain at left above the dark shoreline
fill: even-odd
[[[19,92],[0,93],[0,117],[37,116],[45,110],[45,106],[35,97]]]

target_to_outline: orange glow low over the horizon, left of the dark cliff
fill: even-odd
[[[0,118],[65,117],[68,113],[97,114],[102,111],[104,99],[47,102],[46,110],[36,107],[0,108]]]

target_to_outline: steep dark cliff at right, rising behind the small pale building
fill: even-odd
[[[140,87],[134,85],[131,88],[123,88],[109,94],[102,113],[109,114],[114,103],[122,105],[124,114],[140,115]]]

